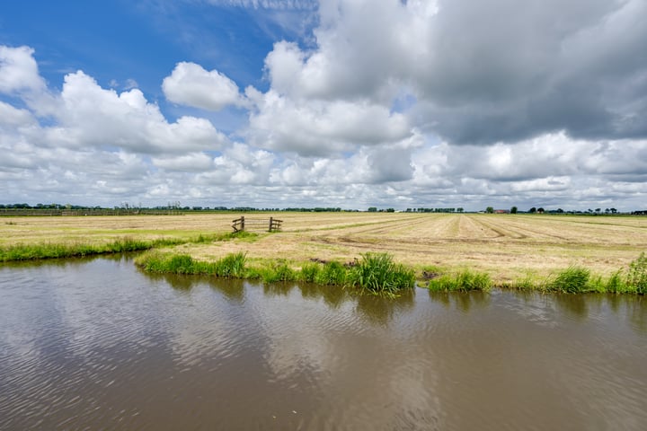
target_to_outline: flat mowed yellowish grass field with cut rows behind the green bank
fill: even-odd
[[[0,247],[17,243],[101,243],[117,238],[191,238],[232,232],[240,215],[51,216],[0,219]],[[280,233],[172,248],[196,259],[243,251],[250,260],[352,261],[388,252],[417,270],[470,268],[495,282],[547,277],[576,265],[608,276],[647,251],[647,217],[415,213],[248,213],[283,220]]]

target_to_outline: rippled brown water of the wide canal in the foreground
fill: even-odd
[[[646,429],[647,298],[0,267],[0,429]]]

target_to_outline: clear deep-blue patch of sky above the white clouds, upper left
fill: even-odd
[[[190,61],[217,68],[243,87],[266,89],[265,56],[276,40],[302,39],[302,29],[287,26],[308,22],[312,11],[223,4],[7,2],[0,37],[6,45],[34,48],[41,75],[58,88],[66,74],[82,69],[103,86],[123,87],[134,80],[147,95],[164,101],[160,83],[176,63]]]

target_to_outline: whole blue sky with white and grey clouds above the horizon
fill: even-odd
[[[0,4],[0,203],[647,209],[647,0]]]

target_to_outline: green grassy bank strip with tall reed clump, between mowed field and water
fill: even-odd
[[[644,253],[629,268],[618,270],[607,278],[593,276],[587,268],[570,267],[545,279],[526,277],[501,285],[494,284],[488,274],[469,269],[433,274],[431,279],[423,281],[421,278],[429,276],[427,271],[416,277],[412,268],[395,263],[387,253],[365,253],[351,264],[330,261],[296,266],[283,259],[248,265],[246,254],[241,252],[206,262],[193,259],[188,254],[151,251],[137,257],[135,262],[140,268],[156,273],[261,279],[266,283],[301,281],[323,286],[355,286],[386,295],[395,295],[401,289],[412,288],[416,284],[433,292],[488,292],[499,287],[563,294],[647,294],[647,257]]]

